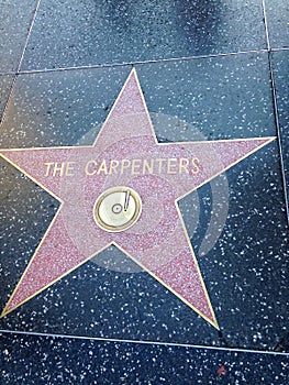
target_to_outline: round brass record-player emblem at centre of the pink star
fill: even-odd
[[[120,232],[132,227],[140,218],[142,200],[130,187],[118,186],[102,193],[93,207],[97,224],[110,232]]]

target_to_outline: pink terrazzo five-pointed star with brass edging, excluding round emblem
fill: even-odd
[[[2,316],[114,244],[218,328],[177,201],[271,140],[158,143],[133,69],[91,146],[0,151],[62,204]],[[95,206],[118,186],[136,191],[142,212],[111,232]]]

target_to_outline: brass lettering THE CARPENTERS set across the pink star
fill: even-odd
[[[79,172],[77,162],[45,162],[46,177],[71,177]],[[87,176],[96,175],[149,175],[149,174],[199,174],[201,164],[198,157],[159,157],[151,160],[90,160],[84,165]]]

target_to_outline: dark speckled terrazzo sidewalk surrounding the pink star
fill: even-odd
[[[111,245],[0,319],[0,384],[287,385],[288,2],[0,11],[0,152],[91,144],[132,68],[159,143],[276,138],[178,204],[220,330]],[[0,157],[1,311],[58,209]]]

